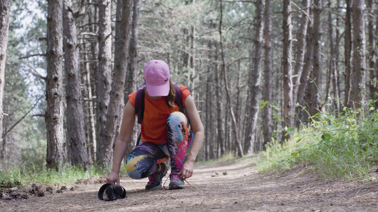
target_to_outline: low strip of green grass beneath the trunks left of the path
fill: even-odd
[[[7,171],[0,172],[0,188],[22,186],[31,182],[45,184],[74,184],[77,180],[101,175],[95,167],[85,171],[76,166],[64,166],[60,171],[47,170],[40,166],[26,169],[22,166],[11,166]]]

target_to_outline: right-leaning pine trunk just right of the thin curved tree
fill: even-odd
[[[256,17],[255,17],[255,38],[254,45],[255,49],[253,51],[253,67],[249,72],[248,87],[249,87],[249,103],[248,112],[249,119],[246,126],[246,135],[244,140],[244,150],[247,154],[252,154],[254,152],[254,142],[256,140],[256,128],[257,128],[257,118],[259,116],[259,93],[260,93],[260,80],[261,80],[261,43],[262,43],[262,11],[263,3],[262,0],[257,0],[256,2]],[[252,54],[252,51],[249,53]]]

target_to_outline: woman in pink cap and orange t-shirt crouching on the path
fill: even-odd
[[[162,60],[151,60],[143,68],[146,82],[144,116],[141,124],[141,143],[127,158],[126,171],[133,179],[148,177],[146,189],[161,187],[168,172],[164,163],[170,157],[171,174],[169,189],[185,188],[184,180],[192,177],[194,161],[202,145],[204,129],[191,93],[179,86],[183,96],[186,116],[179,112],[175,101],[175,89],[170,80],[169,66]],[[119,185],[119,169],[130,142],[135,123],[136,91],[129,95],[114,149],[112,172],[107,183]],[[189,123],[191,123],[189,125]],[[191,131],[193,135],[191,136]],[[189,154],[185,154],[189,143]]]

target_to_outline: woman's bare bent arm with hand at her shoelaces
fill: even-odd
[[[192,141],[192,148],[189,152],[186,161],[183,164],[183,168],[180,171],[181,178],[183,178],[184,180],[186,178],[192,177],[194,161],[195,158],[197,158],[198,152],[201,149],[204,136],[203,124],[200,118],[200,114],[198,114],[198,110],[194,104],[194,99],[192,95],[186,97],[185,113],[186,117],[190,122],[194,136]]]

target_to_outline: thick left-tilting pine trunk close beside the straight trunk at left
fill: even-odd
[[[67,73],[67,127],[71,164],[89,168],[84,131],[84,113],[80,88],[79,48],[71,0],[64,0],[63,9],[64,68]]]

